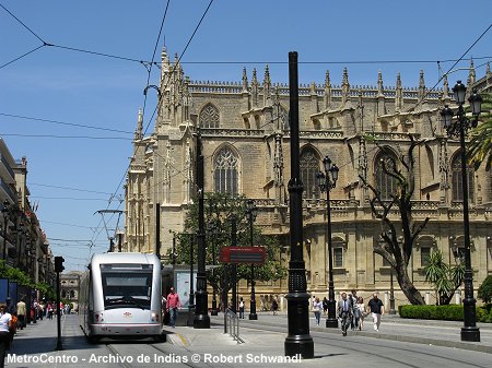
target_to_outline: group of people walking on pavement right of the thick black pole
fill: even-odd
[[[328,299],[325,297],[323,301],[318,297],[313,296],[312,310],[315,313],[316,325],[319,325],[321,310],[325,313],[328,310]],[[364,305],[364,299],[358,297],[356,290],[351,293],[342,293],[337,302],[337,316],[340,320],[342,335],[347,336],[349,327],[352,330],[362,330],[364,318],[371,314],[373,319],[374,331],[379,332],[380,316],[384,314],[385,307],[383,301],[378,298],[377,293],[373,294],[367,305]]]

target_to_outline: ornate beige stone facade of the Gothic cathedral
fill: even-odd
[[[378,180],[380,150],[363,139],[368,135],[396,155],[407,153],[408,134],[421,142],[415,150],[412,214],[417,221],[430,217],[430,222],[409,264],[415,286],[432,293],[422,273],[432,249],[440,248],[452,264],[458,261],[454,254],[462,247],[464,234],[462,193],[455,173],[459,142],[446,135],[441,122],[440,109],[445,104],[453,106],[447,79],[443,82],[443,88],[427,91],[421,72],[419,86],[407,88],[398,74],[395,86],[386,87],[379,72],[377,86],[353,86],[345,69],[341,85],[332,85],[326,72],[323,84],[300,86],[304,258],[312,293],[323,295],[328,287],[326,200],[315,180],[325,156],[340,168],[337,187],[330,192],[336,290],[355,288],[367,296],[389,289],[389,266],[373,252],[380,222],[371,212],[371,192],[360,179],[362,176],[373,185]],[[491,82],[490,68],[476,81],[471,64],[468,85],[490,91]],[[271,83],[268,67],[261,83],[256,70],[250,82],[246,70],[241,82],[190,81],[164,49],[159,94],[157,118],[149,136],[142,133],[142,111],[138,117],[126,186],[124,250],[155,251],[156,213],[161,216],[162,256],[172,246],[172,232],[183,230],[195,192],[199,127],[206,192],[225,190],[254,199],[259,207],[256,224],[266,234],[280,235],[288,251],[289,86]],[[483,168],[473,173],[470,185],[471,262],[478,287],[492,273],[491,173]],[[289,259],[288,253],[282,257]],[[282,295],[286,290],[284,280],[258,285],[257,293]],[[406,302],[401,293],[396,293],[396,298],[397,304]],[[432,296],[429,300],[432,302]]]

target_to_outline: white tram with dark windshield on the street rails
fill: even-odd
[[[162,339],[161,261],[155,254],[94,254],[81,280],[81,328],[101,337]]]

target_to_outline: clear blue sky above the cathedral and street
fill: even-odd
[[[152,60],[157,41],[159,62],[164,37],[169,55],[180,56],[209,3],[171,0],[157,41],[166,0],[0,0],[0,135],[15,158],[27,157],[31,201],[67,270],[81,270],[91,251],[108,248],[94,213],[124,210],[117,199],[140,107],[148,132],[154,124],[156,96],[144,100],[149,73],[138,61]],[[301,83],[323,83],[329,70],[340,84],[347,67],[352,85],[376,85],[380,70],[385,85],[400,72],[403,86],[413,87],[423,70],[432,87],[437,61],[447,72],[491,14],[490,0],[214,0],[181,61],[191,80],[238,82],[246,67],[249,79],[257,68],[261,82],[269,63],[272,82],[286,83],[295,50]],[[470,57],[482,76],[491,29],[454,69],[468,68]],[[149,84],[159,75],[152,67]],[[449,84],[467,75],[454,72]]]

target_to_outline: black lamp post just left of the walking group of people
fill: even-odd
[[[333,189],[338,180],[337,165],[331,164],[331,159],[325,156],[323,159],[325,173],[319,171],[316,175],[318,186],[321,192],[326,191],[326,212],[328,224],[328,318],[326,319],[326,327],[331,329],[338,328],[338,320],[336,317],[336,301],[335,301],[335,286],[333,286],[333,252],[331,247],[331,209],[330,209],[330,190]]]

